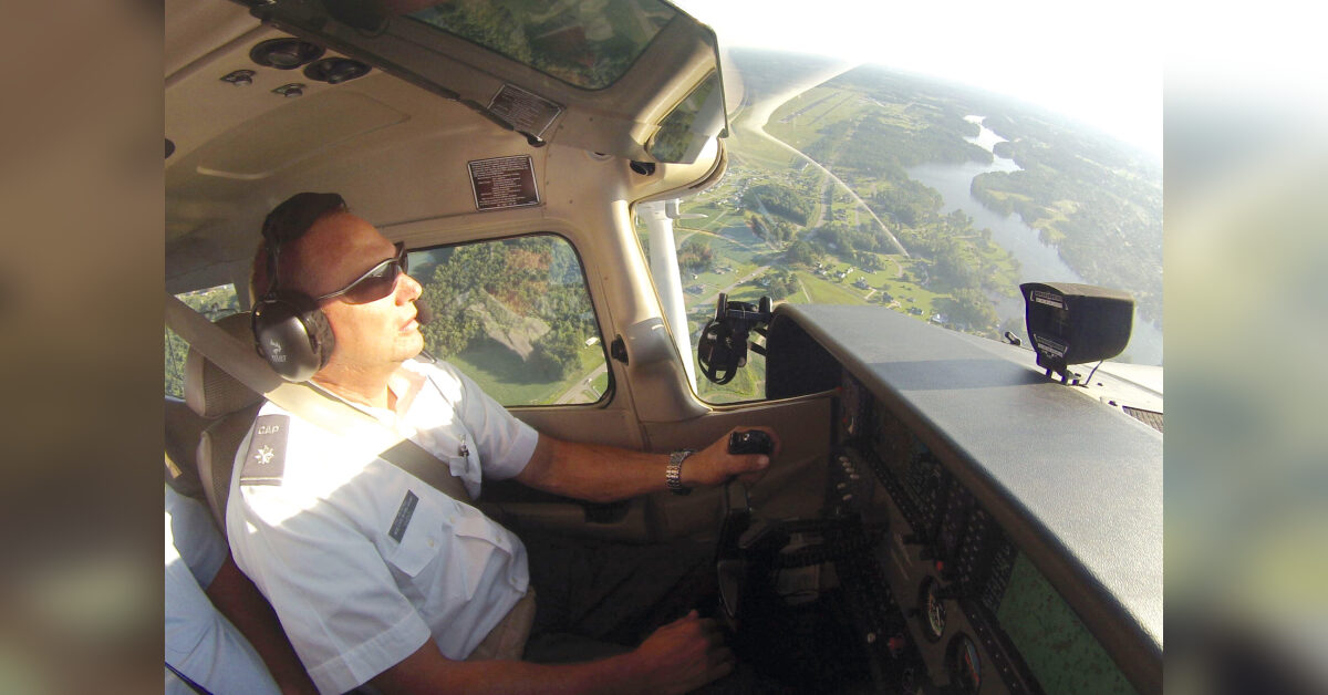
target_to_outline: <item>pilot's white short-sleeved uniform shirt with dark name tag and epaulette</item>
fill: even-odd
[[[449,364],[408,361],[392,389],[397,413],[373,415],[446,461],[471,496],[481,470],[510,478],[535,450],[539,435]],[[465,659],[529,585],[511,532],[376,454],[271,403],[236,453],[232,554],[327,692],[365,683],[430,635]],[[247,458],[279,470],[246,473]]]

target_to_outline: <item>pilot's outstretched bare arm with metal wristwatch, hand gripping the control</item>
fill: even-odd
[[[765,427],[780,452],[780,437]],[[730,432],[732,433],[732,432]],[[732,477],[756,482],[770,465],[765,454],[728,453],[729,435],[701,449],[683,462],[681,482],[688,488],[718,485]],[[539,435],[535,453],[517,480],[544,492],[587,500],[614,502],[667,489],[664,472],[669,454],[644,453],[600,444],[579,444],[548,435]]]

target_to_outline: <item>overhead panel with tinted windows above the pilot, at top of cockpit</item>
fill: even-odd
[[[691,163],[726,133],[722,89],[697,89],[720,80],[714,32],[660,0],[275,0],[252,13],[537,146]]]

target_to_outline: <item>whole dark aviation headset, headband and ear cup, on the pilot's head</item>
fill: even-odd
[[[254,303],[254,347],[287,381],[307,381],[321,369],[336,339],[312,296],[280,288],[282,246],[303,237],[323,215],[344,210],[345,201],[335,193],[296,193],[263,221],[267,291]]]

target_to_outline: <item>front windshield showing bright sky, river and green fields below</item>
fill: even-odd
[[[679,5],[718,33],[733,108],[729,170],[683,201],[705,217],[677,222],[693,335],[726,292],[876,304],[1028,346],[1019,284],[1072,282],[1129,292],[1114,361],[1162,364],[1161,72],[1155,44],[1127,40],[1146,27],[1028,7]]]

